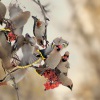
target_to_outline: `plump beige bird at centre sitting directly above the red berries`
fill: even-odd
[[[57,65],[59,64],[61,60],[61,51],[63,50],[63,45],[56,45],[52,52],[49,54],[48,58],[45,60],[45,63],[43,66],[44,70],[42,71],[41,75],[45,72],[47,69],[55,69]]]

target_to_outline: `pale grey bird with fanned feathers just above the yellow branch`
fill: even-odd
[[[28,43],[22,46],[23,58],[20,65],[32,64],[34,61],[37,61],[39,58],[41,58],[41,56],[37,56],[38,53],[36,53],[38,48],[36,46],[35,37],[31,37],[30,35],[26,34],[25,38],[28,39]],[[40,63],[40,61],[38,63]]]

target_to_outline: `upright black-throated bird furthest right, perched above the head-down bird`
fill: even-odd
[[[69,58],[69,52],[66,51],[65,54],[62,56],[59,64],[56,67],[56,70],[59,70],[60,73],[63,73],[66,76],[68,74],[68,69],[70,68],[68,58]]]

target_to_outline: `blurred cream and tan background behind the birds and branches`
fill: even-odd
[[[1,0],[8,8],[11,0]],[[48,40],[63,37],[69,41],[70,69],[73,91],[60,85],[44,91],[45,79],[34,69],[18,84],[20,100],[100,100],[100,0],[40,0],[49,4]],[[32,0],[19,0],[21,8],[43,20],[40,8]],[[25,7],[24,7],[25,6]],[[9,18],[7,13],[6,18]],[[24,32],[32,33],[30,17]],[[21,54],[20,54],[21,55]],[[4,77],[0,67],[0,78]],[[10,86],[0,87],[0,100],[17,100]]]

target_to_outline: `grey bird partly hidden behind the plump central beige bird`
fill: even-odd
[[[47,56],[51,53],[51,51],[53,50],[53,48],[56,46],[56,45],[63,45],[64,48],[66,48],[68,46],[68,42],[66,40],[64,40],[63,38],[55,38],[53,40],[53,42],[45,49],[41,49],[40,52],[42,53],[42,55],[47,58]]]

